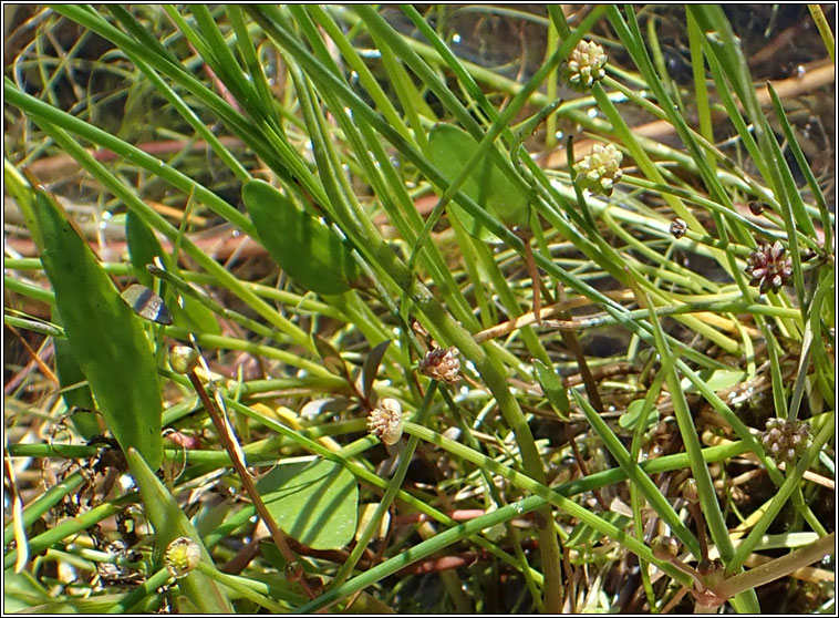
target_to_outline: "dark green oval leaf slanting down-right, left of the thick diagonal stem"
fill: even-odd
[[[248,181],[241,198],[271,257],[303,288],[335,295],[360,279],[359,265],[343,240],[263,181]]]

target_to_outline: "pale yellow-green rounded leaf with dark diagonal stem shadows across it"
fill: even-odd
[[[345,547],[355,534],[359,485],[334,462],[280,462],[257,491],[277,525],[312,549]]]

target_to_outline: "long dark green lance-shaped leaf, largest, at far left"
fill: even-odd
[[[35,199],[43,262],[79,367],[107,428],[155,468],[163,460],[160,388],[139,319],[46,192]]]

